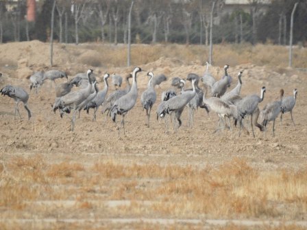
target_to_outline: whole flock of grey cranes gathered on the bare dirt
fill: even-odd
[[[202,77],[195,73],[189,73],[186,79],[180,77],[173,77],[171,79],[171,87],[162,92],[162,99],[157,105],[157,120],[159,118],[166,120],[169,116],[174,123],[174,130],[182,126],[182,112],[184,108],[188,108],[188,127],[193,128],[194,112],[195,110],[204,109],[207,113],[216,113],[219,120],[217,129],[232,129],[239,124],[238,135],[241,135],[241,129],[247,131],[243,120],[250,116],[250,126],[253,136],[254,126],[258,127],[260,131],[267,130],[267,124],[273,121],[272,133],[275,136],[275,119],[280,114],[280,123],[282,123],[282,116],[286,112],[290,112],[291,120],[295,127],[293,120],[293,108],[295,107],[297,99],[297,89],[293,90],[293,96],[284,97],[284,90],[280,90],[280,99],[278,101],[269,102],[262,110],[259,108],[259,104],[265,98],[265,92],[267,91],[265,86],[260,89],[260,96],[256,93],[249,94],[247,96],[241,95],[241,88],[243,87],[243,71],[238,72],[238,83],[232,90],[228,90],[232,83],[232,77],[228,75],[228,68],[230,66],[225,64],[224,75],[221,79],[216,80],[209,71],[209,64],[206,63],[206,71]],[[120,75],[112,74],[112,84],[115,88],[113,92],[108,94],[109,85],[108,78],[110,75],[106,73],[103,76],[104,88],[100,90],[97,88],[97,79],[93,73],[93,70],[89,69],[86,73],[78,73],[73,79],[68,80],[68,76],[63,71],[51,70],[47,72],[38,71],[35,72],[30,78],[30,90],[35,88],[36,94],[38,94],[38,88],[42,86],[45,80],[49,79],[55,82],[56,79],[66,77],[67,81],[56,85],[56,98],[53,104],[53,112],[60,111],[60,116],[69,114],[72,112],[71,118],[71,131],[75,129],[75,120],[77,112],[80,114],[82,110],[86,110],[89,113],[91,108],[94,109],[93,121],[96,120],[96,113],[99,107],[102,107],[101,113],[106,113],[106,116],[111,116],[114,123],[116,123],[116,116],[121,116],[121,125],[116,125],[119,131],[123,129],[125,135],[125,116],[134,108],[138,99],[138,86],[137,75],[143,70],[140,67],[135,67],[132,73],[128,73],[124,77],[126,83],[125,89],[120,89],[123,81],[123,77]],[[143,110],[146,110],[147,127],[149,127],[150,114],[153,105],[157,101],[157,92],[155,86],[159,86],[163,81],[167,81],[167,77],[163,74],[155,76],[153,72],[148,72],[147,76],[149,81],[147,89],[143,91],[140,97],[140,102]],[[132,85],[130,85],[129,79],[132,78]],[[185,89],[187,81],[191,81],[193,88]],[[199,86],[201,82],[201,86]],[[79,88],[73,90],[73,87]],[[228,91],[228,92],[227,92]],[[32,112],[28,107],[27,101],[29,94],[19,86],[5,86],[0,90],[4,96],[14,99],[15,111],[14,118],[19,112],[19,102],[22,101],[27,111],[28,119],[32,117]],[[207,98],[207,94],[210,97]],[[231,124],[231,118],[234,123]],[[258,118],[260,118],[258,123]],[[227,124],[228,119],[228,124]],[[168,128],[167,128],[168,132]],[[249,131],[247,131],[249,133]]]

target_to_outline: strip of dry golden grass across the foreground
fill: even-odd
[[[88,218],[89,212],[97,219],[125,216],[282,221],[304,219],[307,213],[307,168],[262,172],[243,159],[217,168],[123,165],[114,160],[93,165],[50,164],[42,155],[12,157],[3,164],[0,218],[16,219],[16,227],[21,227],[17,219],[56,217],[64,221]],[[51,226],[61,228],[61,223]],[[86,226],[84,222],[79,227]],[[229,229],[245,228],[234,225]]]

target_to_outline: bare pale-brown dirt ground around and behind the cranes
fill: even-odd
[[[166,81],[156,88],[158,100],[153,105],[151,127],[145,125],[145,111],[140,105],[140,94],[147,84],[147,72],[138,75],[138,101],[136,106],[126,116],[126,135],[118,136],[116,125],[110,117],[101,115],[100,110],[97,121],[92,121],[93,110],[90,114],[82,112],[81,118],[76,120],[75,131],[70,131],[70,116],[60,118],[58,112],[53,114],[51,105],[55,99],[54,85],[45,82],[38,94],[29,91],[29,79],[17,78],[16,63],[22,58],[27,58],[32,70],[45,68],[48,58],[44,55],[47,44],[40,44],[37,50],[36,44],[12,43],[0,46],[0,54],[5,56],[1,61],[0,71],[3,77],[0,79],[1,88],[12,84],[21,86],[29,92],[29,108],[32,110],[32,118],[27,120],[27,114],[20,105],[23,120],[14,120],[14,101],[8,97],[0,99],[0,160],[8,162],[12,157],[21,155],[31,157],[41,155],[46,162],[79,163],[83,166],[91,166],[95,162],[115,161],[118,164],[159,164],[161,166],[206,166],[217,167],[225,162],[230,162],[235,157],[245,159],[247,163],[260,170],[270,171],[285,168],[287,170],[299,170],[307,166],[307,73],[290,68],[274,66],[255,66],[253,64],[241,64],[230,66],[229,73],[234,77],[231,88],[236,86],[238,71],[243,72],[242,95],[260,94],[262,86],[267,87],[265,100],[260,103],[260,109],[269,101],[278,98],[280,88],[285,95],[293,95],[293,89],[297,88],[297,103],[293,110],[296,128],[291,123],[290,114],[284,115],[284,120],[276,120],[275,137],[271,133],[271,123],[267,133],[255,129],[256,138],[243,133],[238,136],[238,129],[224,130],[214,133],[217,125],[217,114],[199,109],[195,112],[194,127],[187,126],[187,111],[182,115],[183,125],[174,132],[170,129],[165,132],[163,120],[156,120],[156,107],[160,103],[163,90],[170,88],[170,81]],[[4,47],[5,46],[5,47]],[[9,47],[16,49],[8,52]],[[17,48],[16,48],[17,47]],[[30,48],[29,48],[30,47]],[[80,66],[74,62],[71,53],[62,51],[60,45],[56,46],[57,69],[69,69],[69,79],[83,69],[90,66]],[[59,50],[57,54],[57,51]],[[61,52],[60,52],[61,51]],[[39,60],[39,61],[38,61]],[[5,66],[5,61],[8,65]],[[13,62],[14,61],[14,62]],[[62,65],[59,63],[63,63]],[[13,67],[12,67],[13,66]],[[14,67],[15,66],[15,67]],[[188,73],[202,75],[205,67],[199,64],[184,64],[175,58],[164,58],[149,64],[140,64],[145,71],[153,71],[155,74],[164,73],[168,79],[171,77],[186,77]],[[222,66],[212,66],[210,71],[214,77],[221,77]],[[95,67],[100,81],[103,73],[116,72],[121,75],[129,73],[131,68],[100,68]],[[58,79],[56,84],[64,82]],[[110,83],[110,80],[109,80]],[[122,87],[125,87],[122,86]],[[99,84],[103,88],[103,83]],[[109,92],[114,87],[110,84]],[[120,118],[120,117],[119,117]]]

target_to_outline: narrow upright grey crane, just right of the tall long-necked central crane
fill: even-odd
[[[153,73],[148,72],[147,76],[149,76],[150,79],[148,81],[147,90],[145,90],[140,97],[140,102],[142,103],[143,110],[144,109],[146,110],[147,127],[149,127],[150,112],[151,112],[151,108],[153,104],[156,103],[157,94],[156,94],[156,90],[154,89],[155,85],[152,82],[153,77],[154,77]]]

